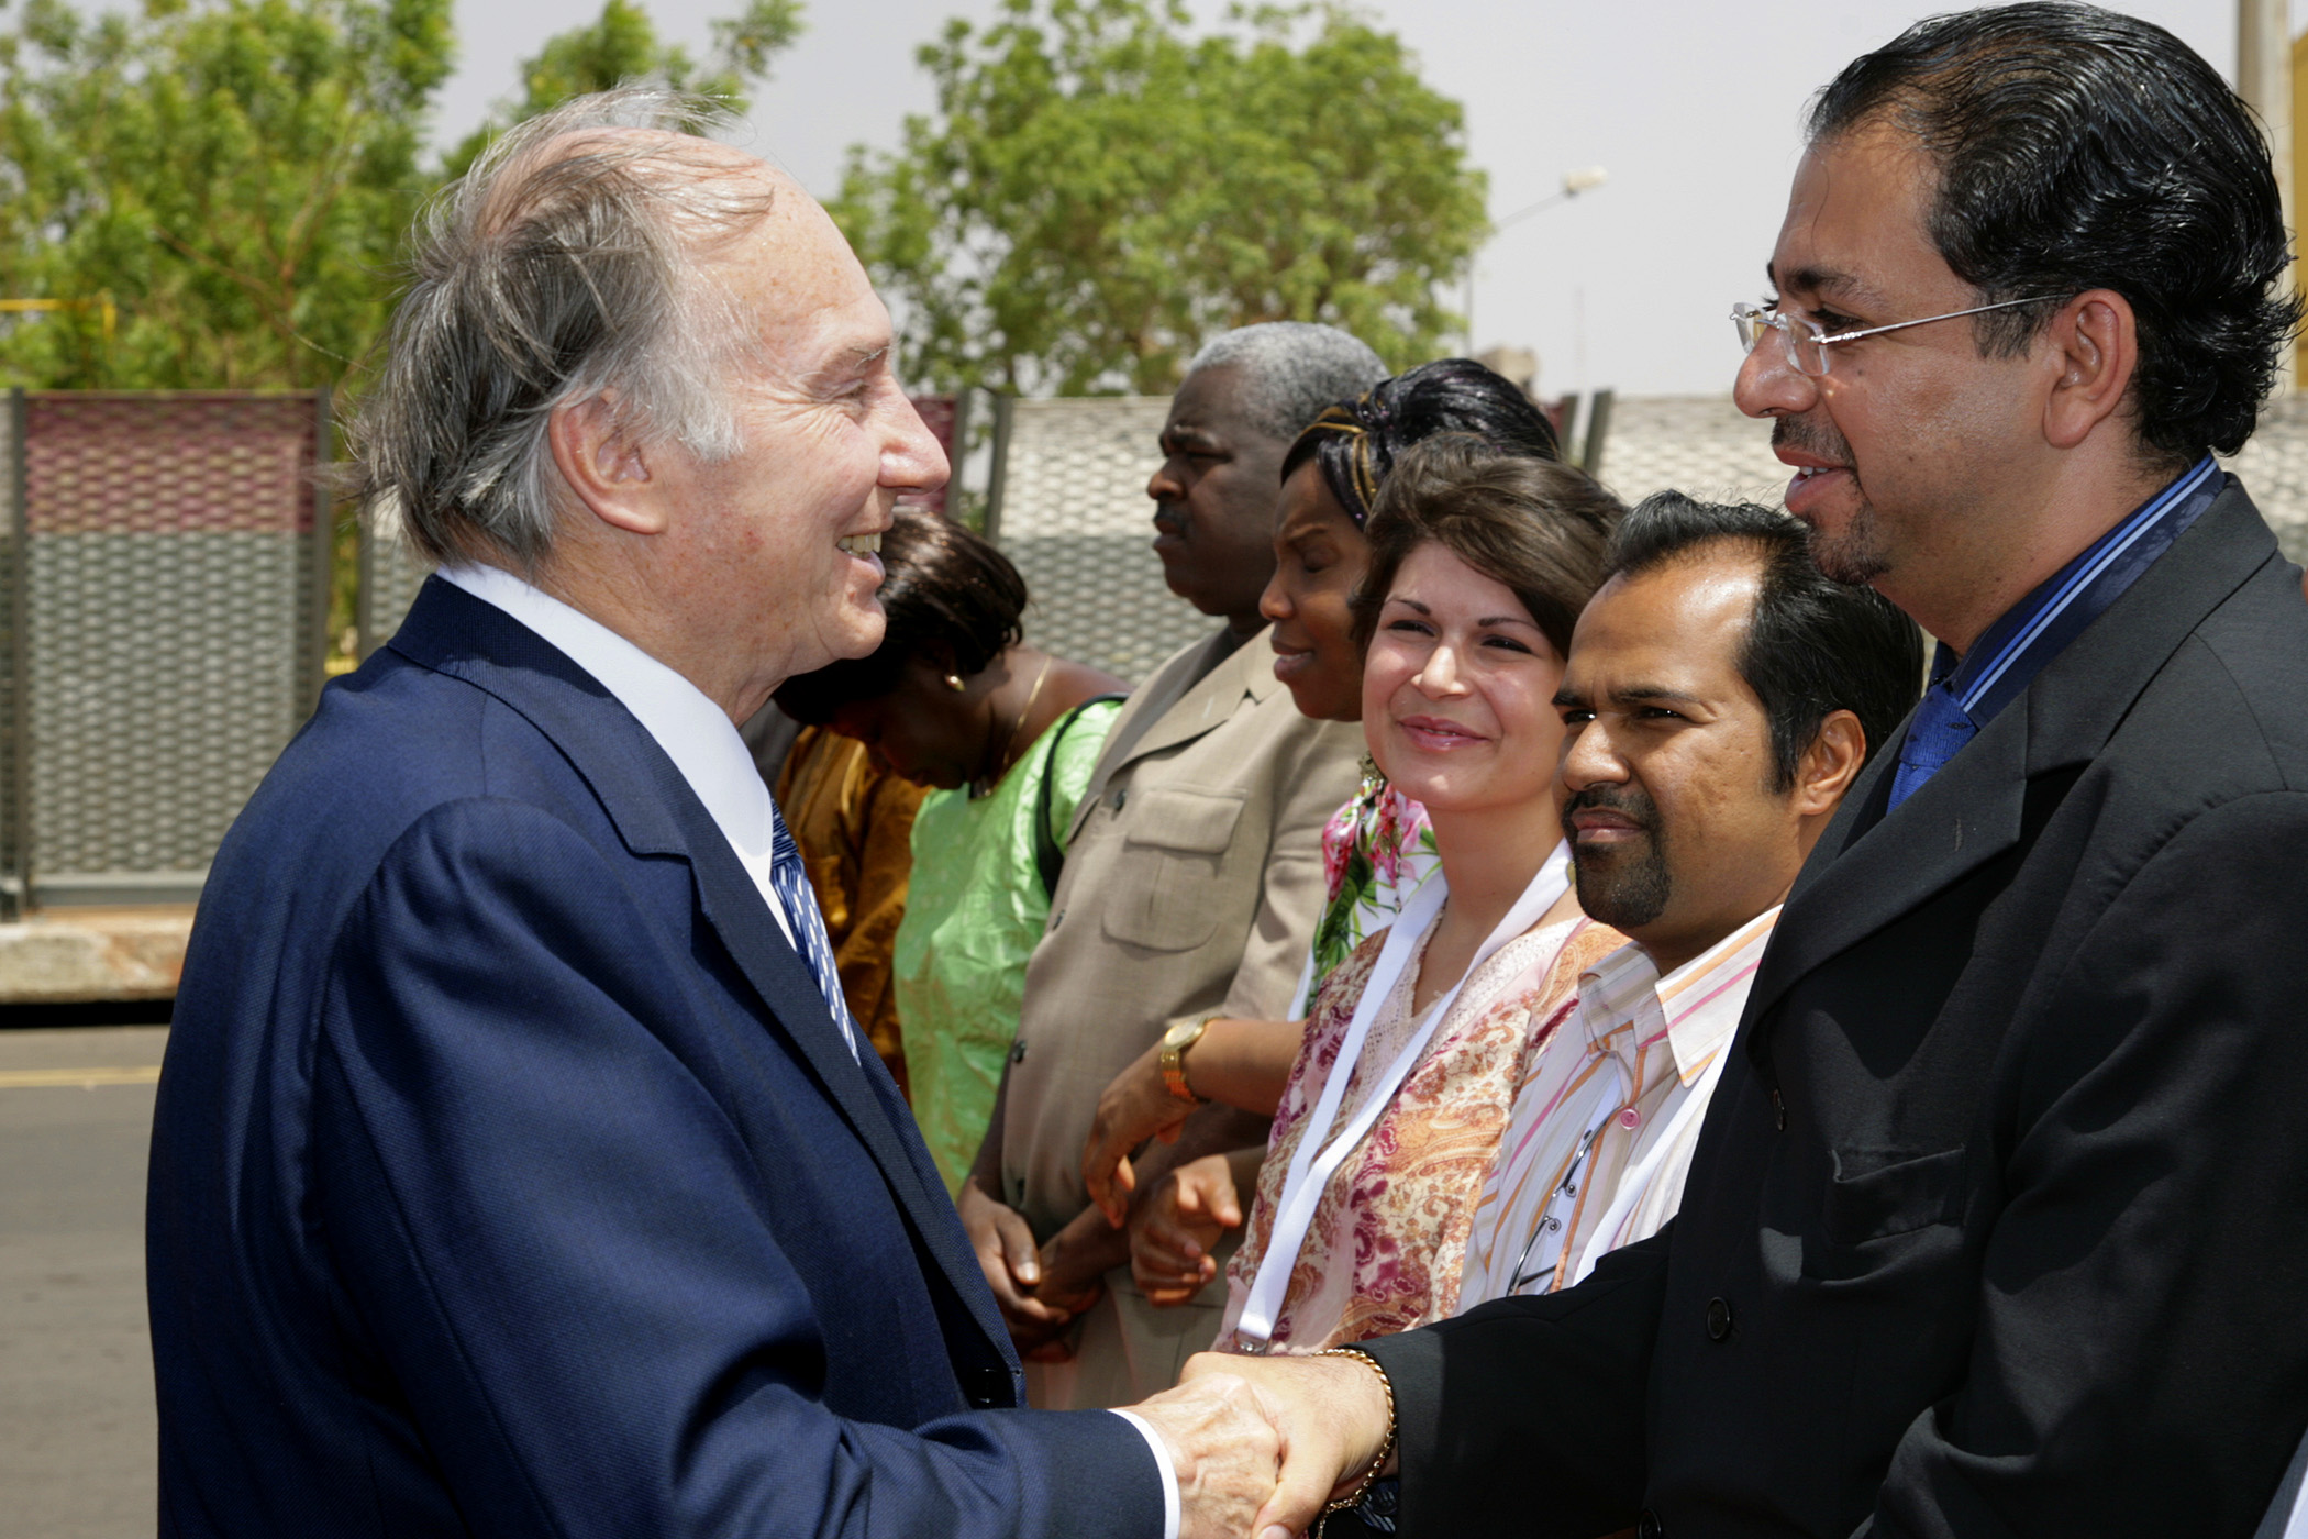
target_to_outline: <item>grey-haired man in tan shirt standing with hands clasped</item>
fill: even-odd
[[[1069,831],[1050,928],[962,1223],[1039,1407],[1168,1389],[1219,1329],[1221,1285],[1154,1311],[1129,1237],[1089,1207],[1082,1140],[1108,1080],[1209,1013],[1290,1008],[1322,907],[1322,824],[1355,794],[1362,731],[1297,713],[1274,678],[1258,595],[1274,572],[1281,459],[1329,401],[1385,376],[1327,325],[1246,325],[1196,355],[1163,425],[1154,551],[1170,591],[1226,621],[1166,660],[1117,718]],[[1265,1124],[1196,1112],[1175,1158],[1265,1144]]]

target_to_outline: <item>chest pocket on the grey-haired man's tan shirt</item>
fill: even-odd
[[[1186,787],[1131,796],[1101,918],[1108,937],[1147,951],[1193,951],[1244,907],[1239,872],[1228,881],[1226,870],[1244,796]]]

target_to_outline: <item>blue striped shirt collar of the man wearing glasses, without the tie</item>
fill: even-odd
[[[1932,651],[1932,683],[1946,685],[1973,725],[1987,725],[2091,621],[2114,605],[2227,487],[2204,455],[2140,503],[2075,561],[2003,611],[1962,658]]]

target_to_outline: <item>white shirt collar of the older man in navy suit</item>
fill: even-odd
[[[609,690],[674,761],[748,874],[762,879],[771,858],[769,787],[745,752],[745,738],[704,690],[593,616],[503,568],[445,565],[441,579],[505,611]]]

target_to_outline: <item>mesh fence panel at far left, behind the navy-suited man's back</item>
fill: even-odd
[[[0,907],[198,893],[312,711],[325,395],[9,392]]]

